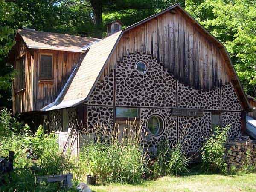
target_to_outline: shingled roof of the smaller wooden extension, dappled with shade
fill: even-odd
[[[50,49],[69,52],[85,52],[86,46],[95,41],[97,38],[80,37],[69,34],[51,33],[35,31],[31,29],[18,29],[26,46],[33,49]]]

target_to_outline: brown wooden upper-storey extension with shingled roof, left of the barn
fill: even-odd
[[[40,111],[53,102],[86,51],[86,46],[96,40],[18,29],[16,44],[9,54],[9,60],[17,71],[13,81],[14,114]]]

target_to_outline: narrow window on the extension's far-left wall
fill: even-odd
[[[16,61],[16,91],[25,89],[25,57],[21,57]]]

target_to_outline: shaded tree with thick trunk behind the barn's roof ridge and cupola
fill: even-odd
[[[128,26],[174,3],[184,6],[185,0],[63,0],[62,5],[83,8],[90,14],[92,34],[102,37],[105,24],[113,19],[122,20]]]

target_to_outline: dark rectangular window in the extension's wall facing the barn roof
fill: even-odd
[[[40,55],[40,79],[52,80],[52,55]]]

